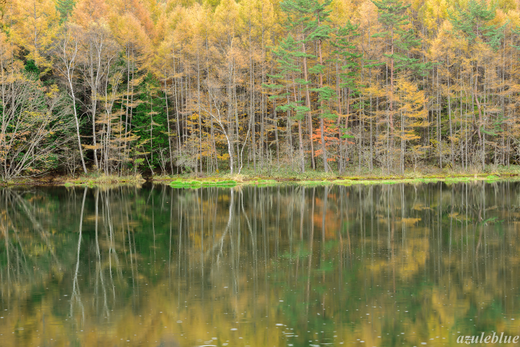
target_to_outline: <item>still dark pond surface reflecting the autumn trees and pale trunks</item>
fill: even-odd
[[[2,189],[0,345],[520,335],[519,194],[514,182]]]

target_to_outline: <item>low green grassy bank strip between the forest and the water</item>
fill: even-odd
[[[147,180],[168,184],[176,188],[200,188],[200,187],[232,187],[240,184],[252,184],[257,186],[271,186],[284,183],[301,185],[324,184],[395,184],[395,183],[429,183],[429,182],[468,182],[468,181],[503,181],[520,180],[520,166],[511,165],[489,167],[484,171],[469,170],[457,171],[452,169],[423,168],[421,171],[407,171],[404,175],[387,174],[381,169],[355,170],[350,169],[344,174],[337,172],[307,170],[305,173],[292,171],[257,171],[242,170],[240,174],[231,175],[229,172],[206,174],[181,174],[152,176],[144,179],[141,175],[105,175],[102,173],[89,173],[76,177],[47,175],[39,178],[18,178],[10,181],[0,181],[0,186],[14,185],[65,185],[65,186],[97,186],[106,184],[142,184]]]

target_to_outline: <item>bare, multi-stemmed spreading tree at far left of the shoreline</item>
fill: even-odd
[[[70,140],[72,110],[57,86],[23,75],[0,34],[0,177],[34,176],[50,168]]]

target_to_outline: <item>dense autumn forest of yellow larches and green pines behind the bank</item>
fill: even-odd
[[[511,0],[0,0],[0,177],[520,161]]]

